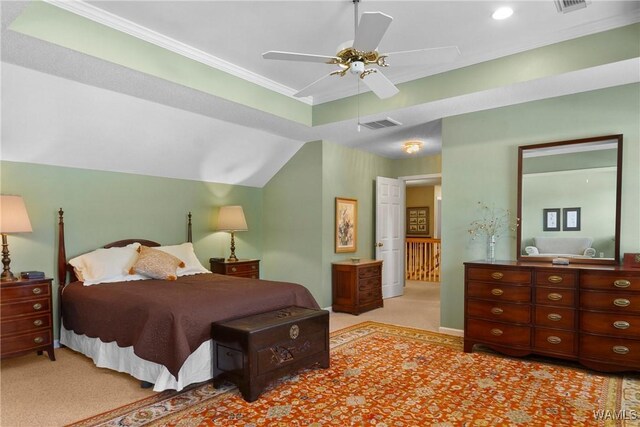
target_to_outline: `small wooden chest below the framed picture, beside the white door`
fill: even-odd
[[[338,261],[331,265],[333,311],[360,314],[383,306],[382,261]]]

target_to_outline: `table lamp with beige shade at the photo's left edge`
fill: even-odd
[[[0,195],[0,233],[2,234],[2,276],[0,280],[9,282],[16,280],[11,273],[9,265],[9,245],[7,244],[7,234],[31,232],[31,222],[27,215],[27,208],[21,196]]]

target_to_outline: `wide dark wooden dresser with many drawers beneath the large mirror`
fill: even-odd
[[[640,269],[518,261],[465,263],[464,351],[640,369]]]

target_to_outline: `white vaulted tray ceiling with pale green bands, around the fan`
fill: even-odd
[[[334,55],[349,0],[2,2],[2,159],[260,187],[307,141],[435,154],[443,117],[640,80],[640,2],[516,1],[493,20],[501,5],[362,0],[394,18],[379,51],[461,52],[391,64],[400,93],[380,100],[348,76],[295,98],[334,66],[261,56]],[[386,117],[402,125],[358,130]]]

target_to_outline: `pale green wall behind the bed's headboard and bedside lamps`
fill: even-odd
[[[229,204],[244,207],[249,226],[249,231],[236,234],[237,255],[262,254],[259,188],[7,161],[0,163],[0,169],[2,194],[24,198],[33,228],[32,233],[8,237],[14,274],[41,270],[56,277],[59,208],[65,212],[68,257],[126,238],[167,245],[185,242],[191,211],[195,251],[209,268],[210,257],[229,255],[229,235],[214,231],[217,207]],[[55,313],[56,322],[57,317]]]

